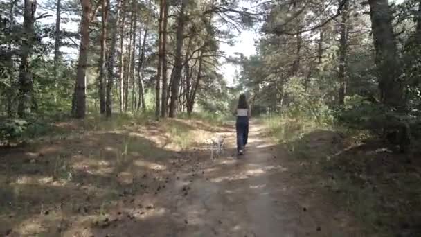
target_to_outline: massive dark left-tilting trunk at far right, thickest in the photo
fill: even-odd
[[[379,78],[380,98],[390,107],[403,109],[404,85],[400,80],[401,66],[393,35],[388,0],[369,0],[370,19],[375,45],[375,62]]]

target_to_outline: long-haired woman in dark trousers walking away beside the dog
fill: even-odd
[[[237,151],[239,155],[242,155],[249,136],[249,119],[251,116],[250,108],[244,94],[241,94],[240,98],[238,98],[236,115],[237,121],[235,123],[235,130],[237,130]]]

